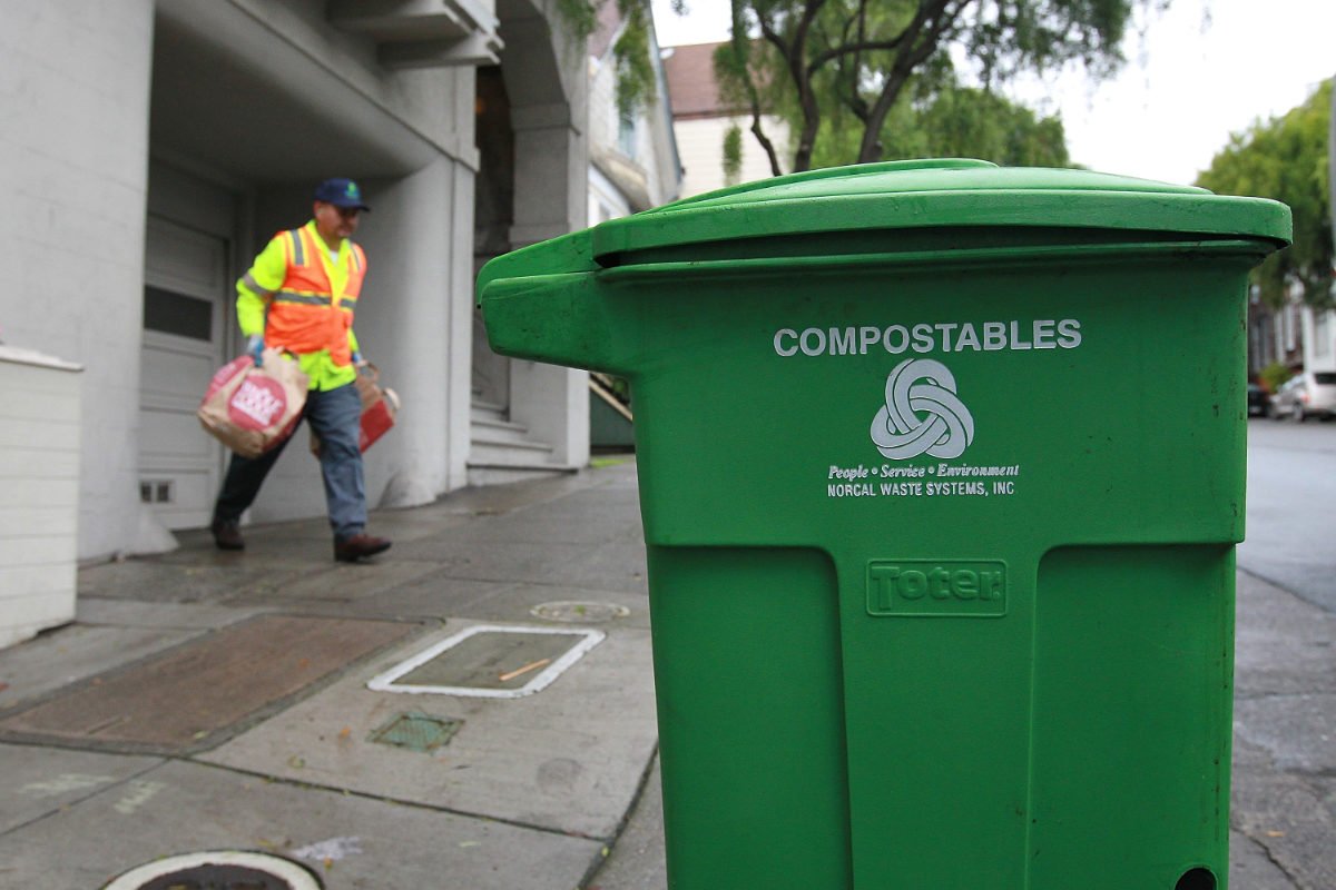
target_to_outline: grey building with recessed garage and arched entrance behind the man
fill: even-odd
[[[585,226],[585,53],[557,7],[5,4],[0,328],[84,368],[69,558],[167,550],[172,530],[208,523],[226,455],[194,412],[242,351],[234,283],[329,176],[357,179],[373,207],[357,332],[403,400],[367,452],[371,506],[588,463],[585,375],[474,362],[476,254]],[[478,444],[484,391],[517,442]],[[315,462],[289,448],[251,518],[323,512]],[[0,526],[0,570],[36,558],[24,535]],[[32,632],[7,615],[23,586],[0,583],[0,624]]]

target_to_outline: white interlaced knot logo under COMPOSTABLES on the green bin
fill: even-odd
[[[872,443],[891,460],[927,454],[959,458],[974,442],[974,418],[941,362],[906,359],[886,378],[886,404],[872,419]]]

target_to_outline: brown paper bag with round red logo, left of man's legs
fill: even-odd
[[[211,435],[243,458],[258,458],[293,434],[306,406],[309,380],[295,360],[265,350],[263,367],[243,355],[220,367],[196,416]]]

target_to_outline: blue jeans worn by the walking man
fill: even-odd
[[[321,440],[321,475],[325,478],[325,502],[329,504],[334,540],[347,540],[366,527],[366,488],[362,483],[362,451],[357,447],[361,431],[362,398],[351,383],[335,390],[311,390],[306,394],[302,420]],[[301,422],[298,422],[301,426]],[[295,435],[295,432],[294,432]],[[234,454],[227,466],[223,490],[214,504],[214,520],[236,522],[251,506],[270,468],[283,452],[285,439],[275,448],[251,460]]]

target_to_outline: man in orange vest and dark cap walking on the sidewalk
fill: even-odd
[[[236,282],[236,320],[255,364],[265,348],[295,356],[310,379],[302,418],[319,439],[321,475],[334,530],[334,558],[357,562],[389,550],[366,534],[366,491],[358,447],[362,400],[354,380],[362,356],[353,334],[353,311],[366,278],[366,254],[349,240],[358,213],[370,207],[350,179],[315,188],[314,212],[301,228],[279,232]],[[293,360],[285,355],[281,360]],[[214,504],[214,543],[242,550],[238,522],[251,506],[283,444],[248,459],[234,454]]]

